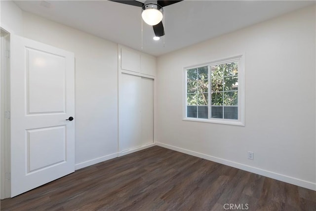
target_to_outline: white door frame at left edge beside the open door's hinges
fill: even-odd
[[[10,168],[10,33],[1,32],[0,72],[0,198],[11,196]]]

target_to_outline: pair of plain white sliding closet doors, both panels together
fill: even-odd
[[[154,142],[154,80],[121,73],[119,151]]]

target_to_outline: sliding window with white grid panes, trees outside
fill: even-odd
[[[244,125],[242,56],[185,68],[185,120]]]

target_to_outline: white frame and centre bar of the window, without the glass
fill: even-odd
[[[238,119],[216,119],[210,118],[210,112],[208,112],[208,119],[202,118],[192,118],[187,117],[187,70],[204,67],[204,66],[215,66],[223,63],[238,62]],[[216,123],[216,124],[226,124],[226,125],[236,125],[236,126],[245,126],[245,70],[244,70],[244,54],[239,54],[237,56],[231,56],[225,59],[215,60],[212,62],[207,62],[203,64],[188,66],[183,68],[183,120],[184,121],[193,121],[193,122],[204,122],[204,123]],[[210,93],[211,93],[211,83],[210,75],[208,76],[209,80],[209,105],[208,111],[210,111]]]

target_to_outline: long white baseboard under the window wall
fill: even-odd
[[[247,165],[236,163],[236,162],[233,162],[233,161],[228,161],[228,160],[225,160],[225,159],[222,159],[222,158],[217,158],[217,157],[214,157],[214,156],[210,156],[210,155],[202,154],[202,153],[199,153],[199,152],[183,149],[183,148],[172,146],[172,145],[169,145],[169,144],[156,142],[156,145],[164,147],[164,148],[167,148],[167,149],[171,149],[171,150],[174,150],[174,151],[182,152],[182,153],[185,153],[185,154],[188,154],[188,155],[192,155],[192,156],[195,156],[195,157],[198,157],[198,158],[203,158],[205,160],[209,160],[209,161],[213,161],[213,162],[216,162],[216,163],[224,164],[226,166],[230,166],[230,167],[234,167],[234,168],[237,168],[237,169],[241,169],[241,170],[249,171],[249,172],[252,172],[252,173],[260,174],[262,176],[270,177],[270,178],[273,178],[273,179],[276,179],[276,180],[280,180],[280,181],[283,181],[283,182],[287,182],[287,183],[290,183],[290,184],[293,184],[293,185],[297,185],[297,186],[300,186],[300,187],[308,188],[308,189],[311,189],[311,190],[316,190],[316,183],[313,183],[313,182],[309,182],[309,181],[301,180],[301,179],[298,179],[298,178],[286,176],[286,175],[279,174],[279,173],[276,173],[276,172],[272,172],[272,171],[269,171],[269,170],[264,170],[264,169],[259,169],[259,168],[247,166]]]

